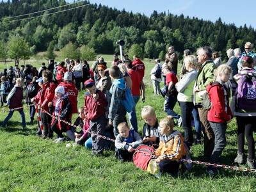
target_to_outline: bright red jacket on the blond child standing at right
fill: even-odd
[[[227,106],[227,113],[225,111],[225,96],[224,88],[220,83],[211,83],[206,87],[211,100],[211,109],[208,111],[207,120],[209,122],[224,123],[229,121],[233,115],[229,106]],[[228,95],[227,95],[227,103]]]

